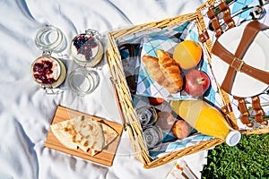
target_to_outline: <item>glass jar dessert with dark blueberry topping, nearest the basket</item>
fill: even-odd
[[[103,47],[97,30],[86,30],[73,38],[70,46],[74,61],[81,66],[94,67],[103,57]]]

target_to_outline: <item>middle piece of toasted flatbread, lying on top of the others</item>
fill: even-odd
[[[79,148],[87,152],[91,149],[92,154],[96,154],[101,151],[105,145],[105,138],[101,125],[91,119],[85,118],[83,115],[71,119],[71,124],[74,126],[74,130],[77,132],[75,136],[75,143]]]

